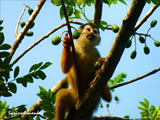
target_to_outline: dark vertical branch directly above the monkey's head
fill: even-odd
[[[94,19],[93,23],[97,26],[100,25],[102,16],[103,0],[95,0]]]

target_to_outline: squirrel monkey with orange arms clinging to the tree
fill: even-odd
[[[66,112],[69,112],[73,107],[75,107],[76,101],[83,97],[87,88],[96,76],[96,61],[100,61],[102,63],[104,60],[103,58],[100,58],[100,54],[95,48],[101,40],[98,27],[92,23],[87,23],[80,26],[78,31],[80,32],[80,37],[74,43],[76,65],[79,69],[78,73],[74,67],[75,59],[73,59],[74,56],[72,54],[72,47],[68,33],[65,35],[63,40],[64,48],[61,57],[61,68],[62,72],[67,74],[67,80],[70,88],[60,89],[57,93],[56,120],[65,120]],[[77,74],[78,80],[80,81],[80,88],[78,88]],[[82,96],[78,96],[78,92]],[[108,85],[106,85],[102,93],[102,98],[110,102],[111,97],[110,89]]]

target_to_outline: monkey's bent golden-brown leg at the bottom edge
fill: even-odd
[[[65,120],[65,113],[69,111],[76,102],[73,89],[61,89],[56,95],[56,120]]]

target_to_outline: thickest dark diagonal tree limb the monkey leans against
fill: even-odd
[[[100,99],[103,88],[111,78],[116,69],[120,58],[125,49],[125,45],[134,31],[136,22],[143,10],[145,0],[133,0],[128,10],[127,16],[124,18],[121,28],[115,38],[113,46],[102,65],[99,75],[95,78],[95,82],[86,91],[83,99],[76,103],[76,109],[73,109],[67,116],[67,120],[82,120],[89,112],[93,110],[93,103],[96,104]]]

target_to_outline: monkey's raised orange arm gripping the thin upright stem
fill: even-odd
[[[71,43],[67,33],[63,40],[63,51],[61,56],[62,72],[63,73],[69,72],[71,65],[72,65]]]

